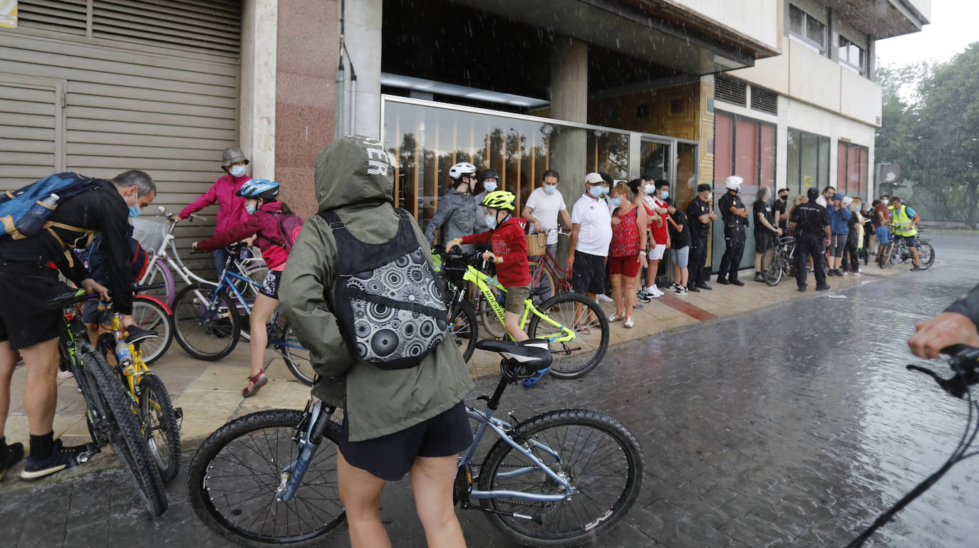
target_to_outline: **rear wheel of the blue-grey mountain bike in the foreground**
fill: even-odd
[[[485,508],[536,520],[486,514],[524,546],[574,546],[602,538],[629,512],[642,488],[642,450],[622,423],[601,413],[561,409],[520,424],[511,434],[575,488],[559,502],[483,499]],[[525,454],[500,439],[480,467],[480,490],[562,494],[564,487]]]

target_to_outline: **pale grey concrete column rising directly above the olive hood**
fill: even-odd
[[[347,53],[356,70],[352,132],[381,137],[381,11],[383,0],[347,0],[344,9]],[[348,74],[350,78],[350,74]],[[350,85],[350,84],[348,84]],[[350,109],[350,96],[345,109]]]

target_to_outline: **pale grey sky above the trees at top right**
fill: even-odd
[[[944,63],[979,41],[979,1],[932,0],[931,23],[921,32],[877,42],[877,58],[885,65],[908,65],[931,59]]]

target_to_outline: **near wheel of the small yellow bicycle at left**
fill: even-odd
[[[168,483],[180,472],[180,424],[163,381],[152,373],[139,381],[139,416],[150,459]]]

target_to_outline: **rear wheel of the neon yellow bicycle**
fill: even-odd
[[[598,365],[609,347],[609,322],[597,302],[577,293],[564,293],[545,300],[537,310],[575,332],[572,341],[555,342],[565,336],[564,331],[533,314],[527,335],[551,341],[551,375],[577,379]]]

